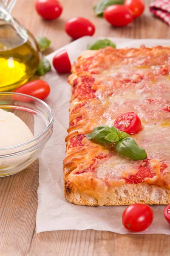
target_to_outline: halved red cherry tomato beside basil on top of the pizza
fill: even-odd
[[[142,129],[141,120],[134,112],[127,112],[118,116],[113,126],[127,134],[135,134]]]

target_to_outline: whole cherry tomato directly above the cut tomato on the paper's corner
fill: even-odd
[[[95,26],[90,20],[75,17],[65,23],[65,32],[71,36],[71,38],[78,39],[85,35],[93,35]]]

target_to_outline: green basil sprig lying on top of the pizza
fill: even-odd
[[[115,127],[102,125],[95,127],[92,133],[86,134],[88,140],[95,140],[99,143],[115,143],[116,151],[125,157],[133,160],[146,159],[147,153],[144,148],[140,147],[136,141],[124,131],[119,131]]]

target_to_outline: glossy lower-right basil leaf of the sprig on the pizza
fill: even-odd
[[[141,148],[136,141],[127,137],[116,143],[116,151],[125,157],[130,157],[133,160],[146,159],[147,153],[144,148]]]

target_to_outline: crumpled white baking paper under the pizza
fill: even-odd
[[[84,37],[62,49],[66,49],[73,63],[90,41],[98,38]],[[110,38],[117,48],[170,46],[170,40]],[[61,49],[59,49],[61,50]],[[57,52],[57,51],[56,51]],[[48,55],[51,62],[56,52]],[[63,194],[62,160],[65,157],[65,136],[68,128],[68,108],[71,88],[68,75],[60,75],[52,70],[45,80],[51,87],[46,102],[54,112],[54,132],[40,157],[40,176],[38,188],[37,233],[51,230],[106,230],[120,234],[130,233],[122,225],[124,206],[88,207],[68,203]],[[164,206],[153,206],[153,224],[142,234],[170,234],[170,225],[164,218]],[[140,234],[141,234],[140,233]]]

